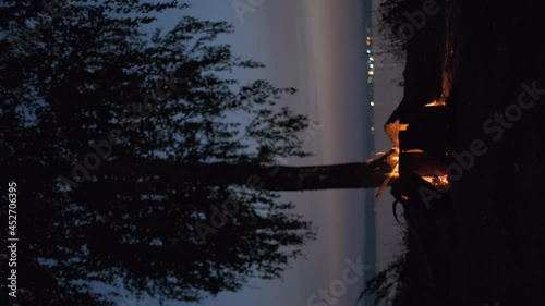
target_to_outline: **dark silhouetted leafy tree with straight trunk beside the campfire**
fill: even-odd
[[[227,23],[143,30],[185,8],[2,2],[1,184],[19,186],[19,305],[112,305],[95,282],[198,301],[278,278],[314,232],[275,191],[375,187],[391,170],[387,156],[282,166],[308,156],[308,119],[279,105],[295,90],[230,78],[263,65],[215,44]]]

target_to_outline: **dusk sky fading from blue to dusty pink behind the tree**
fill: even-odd
[[[288,166],[331,164],[364,161],[363,89],[367,75],[363,70],[365,34],[362,26],[362,0],[201,0],[191,1],[190,11],[169,11],[156,25],[168,29],[183,14],[211,21],[228,21],[234,34],[221,37],[233,52],[262,62],[265,69],[239,73],[238,78],[264,78],[274,85],[296,87],[298,94],[284,102],[299,113],[311,115],[316,124],[308,131],[305,148],[315,156],[293,158]],[[239,12],[237,11],[239,8]],[[376,7],[376,5],[375,5]],[[379,42],[377,38],[376,44]],[[375,74],[375,133],[377,150],[389,150],[382,126],[401,99],[401,88],[392,81],[400,77],[399,64],[378,63]],[[340,189],[283,193],[282,198],[296,205],[296,212],[318,227],[316,241],[303,252],[306,259],[291,262],[283,280],[251,280],[239,292],[220,293],[201,304],[172,302],[170,305],[354,305],[363,289],[363,277],[346,284],[346,292],[332,301],[308,298],[320,289],[329,289],[363,256],[363,198],[376,189]],[[399,252],[399,229],[391,213],[388,192],[376,206],[377,270],[386,267]],[[365,262],[363,262],[365,265]],[[365,273],[365,272],[364,272]],[[131,302],[132,301],[132,302]],[[326,304],[319,304],[319,303]],[[136,303],[125,297],[121,305]]]

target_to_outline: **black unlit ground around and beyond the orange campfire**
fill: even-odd
[[[451,35],[452,132],[446,137],[452,152],[468,151],[475,139],[487,151],[458,180],[449,175],[452,188],[444,196],[453,208],[447,217],[405,206],[420,236],[409,232],[397,305],[545,305],[545,2],[452,1],[441,8],[409,44],[403,102],[422,106],[440,95],[443,46]],[[534,82],[544,94],[520,119],[498,127],[495,113],[509,107],[516,115],[521,83]],[[489,119],[495,132],[483,130]]]

